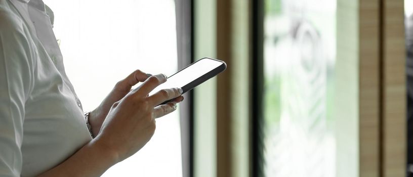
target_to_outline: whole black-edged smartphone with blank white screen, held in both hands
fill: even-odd
[[[149,93],[149,95],[153,95],[162,89],[170,89],[174,87],[180,87],[183,90],[183,93],[186,93],[192,90],[195,86],[198,86],[204,81],[218,75],[226,68],[227,64],[223,61],[212,58],[200,59],[169,76],[166,82],[157,86],[152,92]],[[171,100],[168,100],[160,105],[166,104],[170,101]]]

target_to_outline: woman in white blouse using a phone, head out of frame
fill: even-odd
[[[148,96],[167,77],[137,70],[84,116],[50,13],[42,0],[0,0],[0,176],[99,176],[139,151],[155,118],[183,100],[179,88]]]

